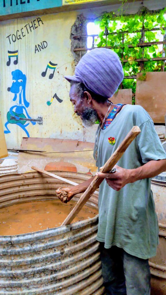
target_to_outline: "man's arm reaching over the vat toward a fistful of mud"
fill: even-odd
[[[76,194],[83,193],[86,191],[92,180],[95,178],[95,176],[92,176],[88,180],[84,181],[83,183],[80,183],[79,185],[76,186],[71,186],[71,187],[64,187],[63,189],[57,189],[56,193],[57,195],[61,193],[61,191],[66,191],[68,193],[68,200],[70,201],[72,197]]]

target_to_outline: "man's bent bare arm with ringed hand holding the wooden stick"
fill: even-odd
[[[96,175],[100,178],[105,178],[108,185],[119,191],[127,183],[133,183],[137,180],[144,178],[152,178],[166,170],[166,159],[163,160],[151,160],[136,169],[124,169],[115,165],[117,171],[115,173],[101,173]]]

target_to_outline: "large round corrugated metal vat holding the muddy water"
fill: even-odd
[[[74,172],[56,174],[77,183],[90,177]],[[1,176],[0,208],[56,199],[59,186],[66,183],[38,172]],[[97,208],[97,199],[93,195],[87,205]],[[0,236],[0,295],[103,294],[97,225],[98,215],[39,232]]]

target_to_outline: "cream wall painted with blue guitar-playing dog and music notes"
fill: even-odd
[[[73,112],[64,79],[74,72],[76,17],[65,12],[0,23],[0,111],[8,148],[19,148],[22,137],[94,141],[95,130]]]

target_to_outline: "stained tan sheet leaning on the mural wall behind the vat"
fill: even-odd
[[[32,171],[32,166],[45,170],[80,173],[88,173],[90,170],[92,174],[95,174],[98,169],[93,158],[94,143],[92,142],[24,137],[21,149],[45,151],[43,153],[19,152],[18,164],[21,173]]]

